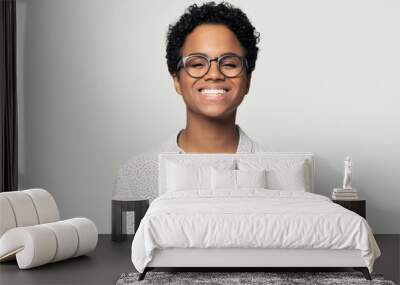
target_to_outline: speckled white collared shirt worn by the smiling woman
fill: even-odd
[[[236,127],[239,130],[236,153],[269,151],[251,140],[239,125]],[[158,196],[158,155],[162,152],[185,153],[178,145],[178,135],[172,135],[159,147],[135,155],[124,163],[118,171],[112,199],[125,201],[155,199]]]

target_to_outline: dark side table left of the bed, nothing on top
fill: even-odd
[[[149,200],[111,201],[111,240],[126,239],[126,212],[135,213],[135,232],[149,208]]]

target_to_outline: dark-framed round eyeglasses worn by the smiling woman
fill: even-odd
[[[219,72],[226,77],[236,77],[247,68],[247,60],[236,54],[225,54],[214,58],[195,54],[182,57],[178,62],[177,70],[183,67],[191,77],[201,78],[210,70],[212,61],[217,62]]]

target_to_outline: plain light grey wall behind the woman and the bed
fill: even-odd
[[[354,160],[376,233],[400,233],[398,1],[232,1],[261,33],[237,122],[277,151],[312,151],[330,195]],[[185,126],[165,34],[192,1],[17,0],[21,189],[109,233],[119,166]]]

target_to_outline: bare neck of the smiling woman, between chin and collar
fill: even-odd
[[[234,120],[187,120],[178,145],[185,153],[236,153],[239,137]]]

